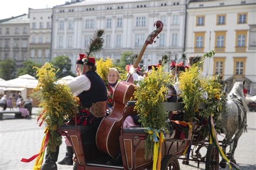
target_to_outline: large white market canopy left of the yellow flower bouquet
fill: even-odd
[[[6,88],[35,88],[37,86],[38,80],[29,75],[25,74],[22,76],[18,76],[16,79],[8,80],[8,81],[1,81],[0,87]]]

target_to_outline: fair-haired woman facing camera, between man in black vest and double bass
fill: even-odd
[[[119,72],[116,68],[110,68],[109,73],[107,73],[107,107],[109,109],[109,112],[111,112],[114,101],[113,101],[113,91],[114,88],[117,85],[118,79],[119,79]]]

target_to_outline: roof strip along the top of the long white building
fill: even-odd
[[[134,3],[134,2],[150,2],[152,0],[85,0],[82,2],[70,3],[65,5],[58,5],[55,8],[72,7],[72,6],[89,6],[89,5],[106,5],[118,3]]]

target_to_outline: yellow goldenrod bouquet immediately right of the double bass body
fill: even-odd
[[[134,109],[138,112],[142,127],[165,130],[167,112],[165,111],[163,102],[166,101],[167,86],[171,83],[170,74],[164,72],[162,67],[158,70],[153,68],[152,72],[138,83],[139,86],[136,87],[136,91],[134,92],[134,98],[137,100]],[[148,134],[145,145],[146,155],[152,153],[152,134]]]

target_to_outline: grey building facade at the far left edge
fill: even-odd
[[[24,14],[0,20],[0,61],[16,61],[17,68],[27,60],[29,47],[29,18]]]

